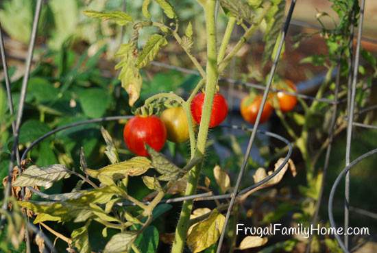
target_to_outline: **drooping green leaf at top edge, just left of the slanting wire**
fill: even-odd
[[[278,36],[284,22],[284,10],[286,0],[271,1],[272,5],[265,16],[267,23],[265,36],[263,41],[265,42],[265,51],[263,52],[262,65],[265,66],[267,61],[273,56],[273,50],[276,50],[278,45]]]

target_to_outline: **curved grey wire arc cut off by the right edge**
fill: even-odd
[[[363,154],[362,156],[358,156],[358,158],[356,158],[355,160],[353,160],[350,163],[350,165],[348,165],[347,167],[345,167],[343,169],[343,171],[341,171],[341,173],[339,173],[339,175],[338,175],[337,179],[335,180],[334,184],[332,184],[332,188],[331,188],[331,191],[330,191],[330,197],[328,198],[328,217],[330,219],[330,226],[332,228],[335,228],[335,230],[337,230],[337,224],[335,224],[334,215],[332,214],[332,204],[334,202],[335,190],[337,189],[337,186],[338,186],[339,182],[341,181],[341,178],[345,175],[345,173],[348,173],[348,171],[350,171],[350,169],[352,167],[354,167],[354,165],[356,165],[358,162],[360,162],[364,158],[372,156],[373,154],[376,154],[376,153],[377,153],[377,149],[372,149],[371,151]],[[344,231],[344,232],[347,232],[347,231]],[[343,252],[350,253],[350,251],[347,248],[345,248],[345,244],[341,240],[341,237],[339,237],[339,234],[335,234],[335,239],[337,239],[337,241],[338,241],[339,245],[341,246]]]

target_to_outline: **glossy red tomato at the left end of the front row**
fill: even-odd
[[[138,156],[148,156],[145,144],[159,152],[167,140],[165,124],[157,116],[135,116],[125,124],[125,145]]]

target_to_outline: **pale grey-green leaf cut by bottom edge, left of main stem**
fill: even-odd
[[[136,231],[127,231],[115,234],[105,246],[104,253],[128,252],[137,237]]]

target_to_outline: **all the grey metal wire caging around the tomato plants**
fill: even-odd
[[[228,210],[226,212],[225,224],[223,226],[223,230],[222,230],[220,238],[219,238],[219,243],[217,245],[217,253],[221,252],[221,246],[223,244],[224,234],[226,232],[226,227],[228,225],[228,221],[229,221],[230,215],[232,213],[232,208],[233,208],[233,206],[236,202],[236,198],[239,195],[242,195],[244,193],[247,193],[248,191],[251,191],[252,189],[256,189],[258,186],[265,184],[266,182],[271,180],[273,177],[277,176],[278,173],[280,173],[280,171],[283,169],[283,167],[285,165],[287,165],[287,162],[288,162],[289,158],[291,157],[291,154],[292,154],[292,151],[293,151],[293,146],[287,140],[287,138],[284,138],[283,136],[280,136],[279,134],[274,134],[272,132],[258,130],[258,127],[259,127],[259,123],[260,123],[260,117],[261,117],[262,111],[263,111],[261,109],[265,106],[269,92],[270,91],[280,91],[280,90],[277,90],[276,88],[271,87],[271,84],[273,82],[273,77],[276,73],[276,68],[278,66],[278,61],[279,61],[279,58],[280,58],[279,56],[280,56],[280,53],[282,51],[282,47],[284,45],[284,40],[287,36],[287,32],[289,30],[289,25],[291,25],[291,19],[292,19],[293,11],[295,9],[296,1],[297,0],[291,1],[290,6],[289,6],[289,11],[287,13],[287,18],[284,21],[284,24],[282,25],[282,28],[281,28],[281,36],[278,36],[278,40],[276,41],[277,51],[276,51],[275,58],[273,59],[273,64],[271,65],[271,69],[269,71],[269,76],[268,76],[266,84],[265,85],[252,84],[250,82],[241,82],[241,81],[233,80],[231,78],[226,78],[226,77],[220,77],[219,78],[219,81],[228,82],[229,84],[232,84],[232,85],[237,84],[237,85],[242,85],[242,86],[246,86],[246,87],[253,87],[253,88],[257,88],[257,89],[263,91],[263,99],[261,101],[260,109],[258,110],[258,115],[256,117],[256,122],[254,124],[254,128],[245,128],[245,127],[240,126],[240,125],[221,125],[221,127],[223,127],[223,128],[244,130],[245,132],[250,133],[250,138],[249,138],[249,141],[247,143],[247,148],[246,148],[245,154],[243,156],[243,163],[241,165],[241,169],[240,169],[239,174],[237,176],[236,184],[234,186],[234,190],[232,191],[232,193],[222,194],[222,195],[212,195],[212,193],[199,193],[199,194],[183,196],[183,197],[173,197],[173,198],[170,198],[170,199],[167,199],[167,200],[162,200],[162,202],[161,202],[161,203],[173,203],[173,202],[183,202],[185,200],[210,201],[210,200],[230,199],[230,202],[228,204]],[[9,75],[8,75],[8,64],[7,64],[7,60],[6,60],[5,47],[4,47],[4,43],[3,43],[3,34],[1,32],[1,24],[0,24],[0,53],[1,53],[1,62],[3,64],[3,70],[4,70],[4,76],[5,76],[5,87],[6,87],[6,92],[7,92],[7,96],[8,96],[8,106],[9,106],[9,109],[10,109],[10,114],[15,117],[14,122],[12,122],[12,133],[13,133],[13,136],[14,136],[14,143],[13,143],[12,152],[11,152],[11,155],[10,155],[11,160],[10,160],[10,166],[9,166],[9,171],[8,171],[8,176],[10,176],[9,178],[11,178],[11,176],[12,176],[12,170],[13,170],[15,163],[16,163],[16,165],[18,165],[17,167],[20,168],[21,162],[23,160],[25,160],[25,158],[27,157],[27,154],[34,147],[36,147],[36,145],[38,145],[38,143],[43,141],[45,138],[47,138],[47,137],[49,137],[53,134],[56,134],[57,132],[61,132],[61,131],[64,131],[64,130],[67,130],[67,129],[70,129],[70,128],[75,128],[75,127],[80,126],[80,125],[86,125],[86,124],[89,124],[89,123],[101,123],[101,122],[105,122],[105,121],[117,121],[117,120],[120,120],[120,119],[130,119],[130,117],[132,117],[132,116],[103,117],[103,118],[99,118],[99,119],[89,119],[89,120],[86,120],[86,121],[78,121],[78,122],[75,122],[75,123],[71,123],[69,125],[64,125],[60,128],[56,128],[55,130],[52,130],[51,132],[47,132],[43,136],[40,136],[40,138],[36,139],[36,141],[33,141],[25,149],[22,156],[20,157],[20,150],[18,148],[19,131],[20,131],[20,126],[21,126],[22,117],[23,117],[25,97],[27,95],[27,84],[28,84],[29,74],[30,74],[31,66],[32,66],[32,58],[33,58],[33,53],[34,53],[36,33],[37,33],[37,27],[38,27],[38,21],[39,21],[39,18],[40,18],[40,10],[42,8],[42,3],[43,3],[42,0],[36,1],[36,9],[35,9],[34,21],[33,21],[33,25],[32,25],[32,33],[31,33],[31,37],[30,37],[30,41],[29,41],[27,58],[25,59],[25,75],[23,76],[23,82],[22,82],[22,85],[21,85],[21,95],[20,95],[20,99],[19,99],[19,106],[18,106],[17,112],[15,112],[15,110],[14,110],[14,104],[13,104],[13,99],[12,99],[11,90],[10,90],[10,78],[9,78]],[[345,206],[344,206],[345,219],[344,219],[344,224],[343,224],[343,227],[345,228],[345,230],[349,226],[350,169],[352,167],[354,167],[354,165],[356,165],[361,160],[368,158],[369,156],[372,156],[372,155],[377,153],[377,148],[376,148],[376,149],[373,149],[373,150],[371,150],[371,151],[369,151],[369,152],[367,152],[367,153],[365,153],[361,156],[358,156],[358,158],[356,158],[352,161],[350,160],[350,150],[351,150],[351,144],[352,144],[352,128],[361,127],[361,128],[377,129],[376,125],[367,125],[367,124],[364,124],[364,123],[354,122],[354,115],[356,113],[361,114],[361,113],[364,113],[364,112],[368,112],[370,110],[375,110],[377,108],[377,105],[369,106],[367,108],[363,108],[363,109],[359,110],[358,112],[354,112],[355,97],[356,97],[356,83],[357,83],[357,80],[358,80],[358,65],[359,65],[359,60],[360,60],[361,39],[362,39],[362,35],[363,35],[364,8],[365,8],[365,0],[361,0],[358,33],[357,33],[357,39],[356,39],[356,53],[354,54],[354,56],[351,56],[351,62],[350,63],[352,63],[352,64],[350,64],[350,69],[349,69],[350,71],[349,71],[349,75],[348,75],[348,99],[345,100],[345,101],[347,101],[347,104],[348,104],[348,115],[349,115],[347,117],[347,144],[346,144],[346,147],[345,147],[345,152],[346,152],[345,168],[341,171],[341,173],[339,173],[339,176],[337,177],[335,182],[332,184],[332,189],[330,191],[330,197],[328,199],[328,216],[329,216],[329,219],[330,219],[330,226],[332,226],[333,228],[337,228],[337,224],[335,224],[335,219],[334,219],[334,215],[333,215],[333,202],[334,202],[334,196],[335,196],[335,191],[337,189],[337,186],[341,182],[341,179],[343,178],[343,176],[345,176],[345,192],[344,192],[344,194],[345,194]],[[353,27],[352,27],[352,34],[353,34]],[[350,43],[350,47],[353,47],[352,43]],[[185,68],[182,68],[182,67],[173,66],[173,65],[166,64],[166,63],[163,63],[163,62],[151,62],[151,64],[153,64],[154,66],[162,67],[162,68],[166,68],[166,69],[174,69],[176,71],[180,71],[180,72],[186,73],[186,74],[199,75],[199,73],[197,73],[197,71],[193,71],[191,69],[185,69]],[[287,93],[289,95],[295,95],[297,97],[301,97],[302,99],[317,100],[317,101],[321,101],[321,102],[332,105],[332,115],[331,115],[331,121],[330,121],[330,128],[328,130],[328,138],[329,138],[329,141],[330,141],[330,145],[328,145],[328,147],[326,149],[326,157],[325,157],[325,161],[324,161],[324,175],[326,175],[326,171],[328,169],[329,160],[330,160],[330,152],[331,152],[331,148],[332,148],[331,143],[332,143],[333,138],[334,138],[334,129],[335,129],[335,123],[336,123],[336,119],[337,119],[337,106],[341,102],[344,102],[344,101],[341,101],[341,100],[338,99],[339,86],[340,86],[339,85],[339,83],[340,83],[340,67],[341,67],[341,63],[340,63],[340,59],[339,59],[339,62],[337,64],[337,71],[336,71],[336,81],[335,81],[335,91],[334,91],[334,97],[335,98],[334,99],[317,98],[317,97],[311,97],[309,95],[304,95],[304,94],[298,93],[298,92],[281,91],[282,93]],[[283,162],[280,164],[278,169],[273,171],[273,173],[271,173],[269,176],[267,176],[266,178],[264,178],[260,182],[257,182],[256,184],[252,184],[251,186],[247,186],[245,189],[240,189],[241,179],[243,177],[245,169],[247,168],[247,160],[250,158],[250,153],[251,153],[251,150],[252,150],[252,145],[253,145],[254,140],[256,138],[256,134],[263,134],[263,135],[266,135],[266,136],[270,136],[271,138],[276,138],[278,141],[282,141],[282,143],[287,145],[288,151],[287,151],[286,156],[284,157]],[[317,208],[315,210],[315,215],[313,217],[313,223],[316,223],[317,219],[318,219],[319,206],[321,204],[321,200],[322,200],[323,195],[324,195],[324,181],[325,180],[326,180],[326,177],[324,176],[322,178],[322,184],[321,184],[321,189],[320,189],[320,193],[319,193],[319,200],[317,202]],[[5,194],[4,194],[5,200],[10,195],[10,187],[11,187],[11,185],[9,183],[5,187]],[[42,193],[40,191],[32,189],[31,187],[29,189],[31,191],[33,191],[34,193],[36,193],[37,195],[39,195],[40,197],[51,200],[51,197],[49,195],[47,195],[46,193]],[[24,191],[25,191],[25,189],[23,189],[23,192]],[[125,204],[127,204],[127,203],[125,203]],[[130,203],[128,203],[128,204],[130,204]],[[8,204],[4,202],[2,208],[3,209],[8,208]],[[369,213],[367,210],[363,210],[363,211],[364,211],[364,213]],[[376,217],[376,215],[369,215],[369,217]],[[3,219],[1,219],[1,224],[2,223],[3,223]],[[42,230],[40,230],[39,228],[37,228],[34,224],[32,224],[30,222],[27,222],[27,227],[30,230],[32,230],[35,234],[39,234],[45,240],[45,243],[46,243],[47,247],[51,250],[51,252],[56,252],[56,249],[53,247],[53,243],[51,243],[49,238],[42,232]],[[26,243],[27,243],[27,249],[29,249],[30,248],[30,245],[29,245],[30,239],[29,239],[28,233],[26,233],[25,238],[26,238]],[[313,237],[311,237],[311,239],[313,239]],[[309,239],[308,247],[306,248],[306,252],[310,251],[311,239]],[[341,249],[343,250],[343,252],[346,252],[346,253],[350,252],[349,251],[349,238],[348,238],[347,234],[345,234],[343,239],[341,239],[341,237],[338,234],[335,234],[335,239],[337,239],[337,241],[338,241],[339,245],[341,246]]]

